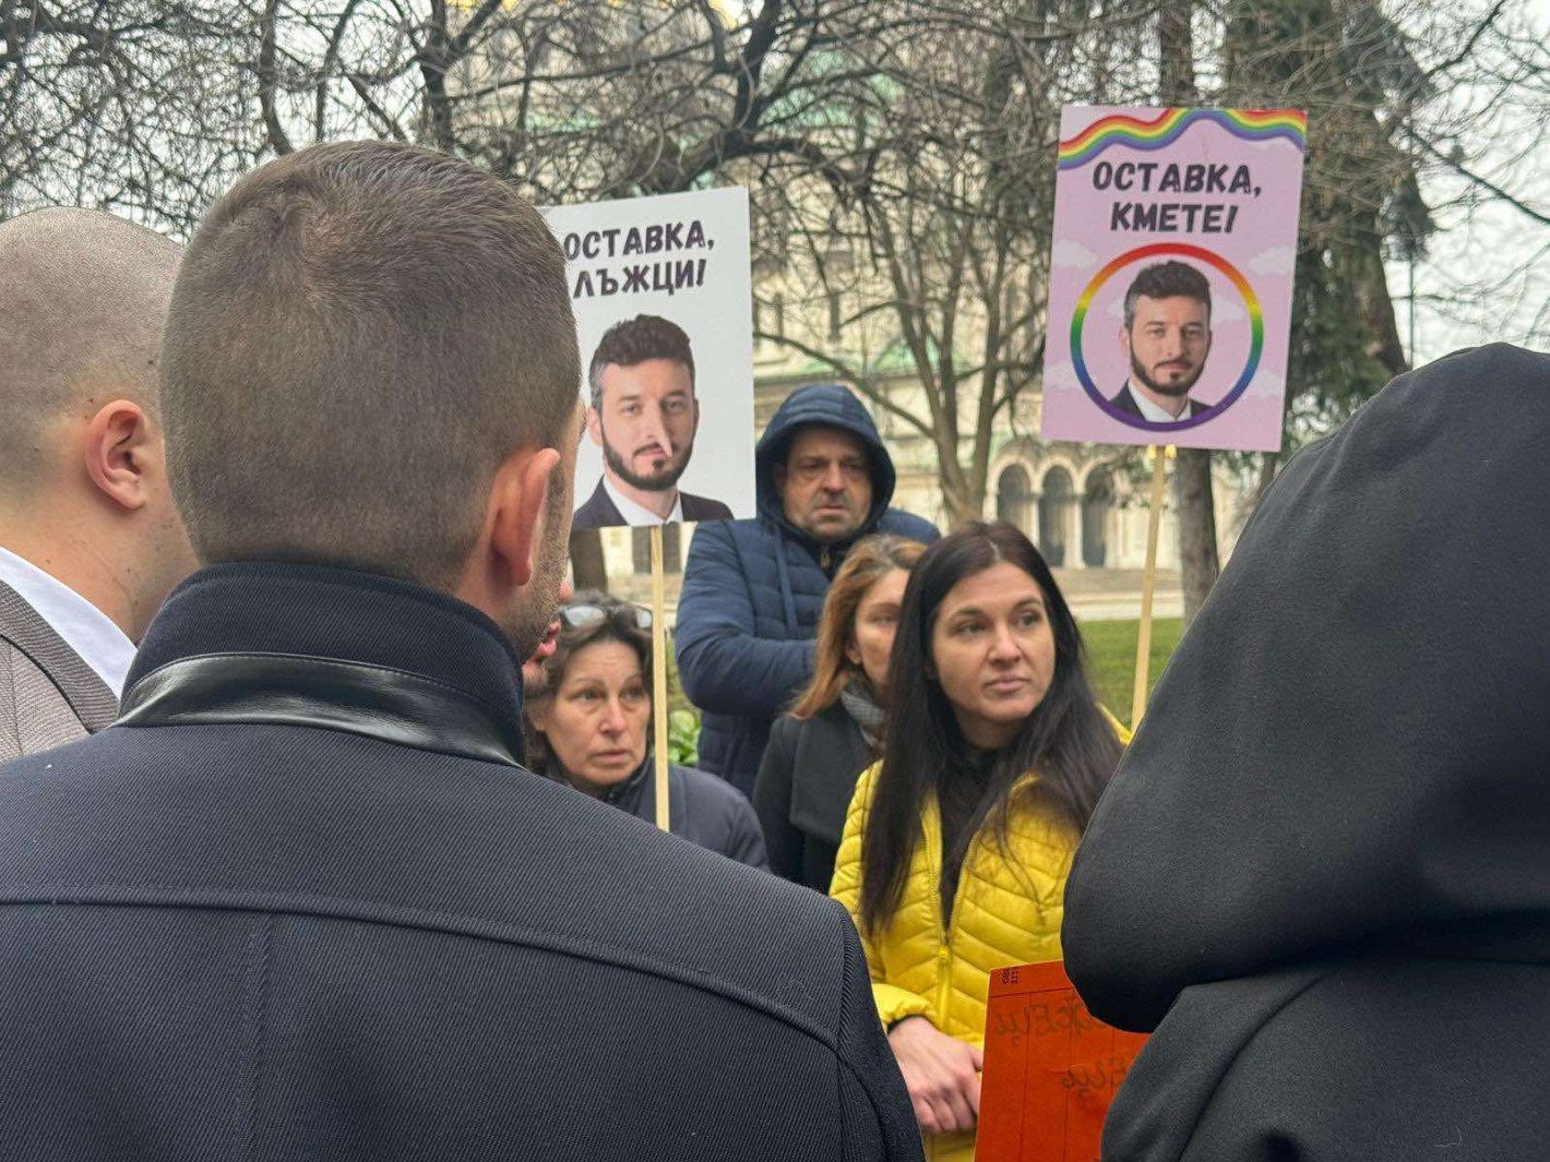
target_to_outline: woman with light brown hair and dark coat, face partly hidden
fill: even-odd
[[[877,761],[899,601],[922,552],[901,536],[851,547],[823,601],[812,682],[770,730],[753,809],[770,871],[814,891],[829,891],[856,779]]]

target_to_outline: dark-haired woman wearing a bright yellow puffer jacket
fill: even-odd
[[[990,971],[1060,959],[1071,854],[1128,734],[1009,524],[921,556],[888,688],[884,758],[856,787],[829,891],[860,930],[927,1156],[967,1162]]]

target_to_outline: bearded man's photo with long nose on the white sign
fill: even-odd
[[[586,429],[603,449],[603,476],[572,528],[732,517],[721,500],[677,486],[699,431],[694,353],[682,327],[657,315],[615,322],[603,332],[587,380]]]

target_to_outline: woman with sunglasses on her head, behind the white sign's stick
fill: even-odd
[[[653,823],[651,612],[577,595],[560,610],[544,679],[525,706],[533,770]],[[753,807],[735,787],[690,767],[670,767],[668,778],[674,835],[769,866]]]

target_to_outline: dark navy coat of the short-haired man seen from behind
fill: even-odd
[[[0,765],[0,1156],[919,1159],[843,909],[529,773],[451,596],[205,569]]]

